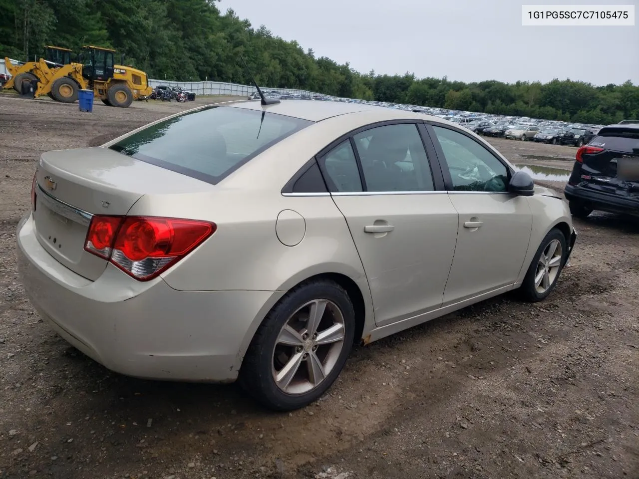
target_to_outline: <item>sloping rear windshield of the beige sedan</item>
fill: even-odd
[[[160,121],[110,148],[215,185],[254,156],[311,124],[258,110],[210,107]]]

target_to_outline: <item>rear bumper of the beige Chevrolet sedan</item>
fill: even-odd
[[[87,356],[127,376],[235,380],[254,330],[283,294],[177,291],[161,278],[137,282],[111,264],[90,281],[42,248],[30,214],[16,236],[20,278],[40,316]]]

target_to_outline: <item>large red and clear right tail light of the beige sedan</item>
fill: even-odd
[[[160,275],[211,236],[215,223],[160,217],[91,218],[84,250],[106,259],[131,277]]]

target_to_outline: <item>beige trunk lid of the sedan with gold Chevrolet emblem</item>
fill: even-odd
[[[66,268],[96,280],[107,261],[84,250],[93,215],[126,215],[145,194],[212,188],[107,148],[49,151],[40,157],[36,172],[36,235]]]

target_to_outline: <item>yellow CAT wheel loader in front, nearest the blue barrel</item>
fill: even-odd
[[[153,89],[146,73],[131,66],[116,65],[114,54],[112,49],[85,45],[77,61],[66,65],[40,59],[29,70],[32,76],[22,81],[37,79],[35,98],[49,95],[63,103],[75,102],[81,89],[93,90],[94,97],[105,105],[121,108],[141,96],[151,95]]]

